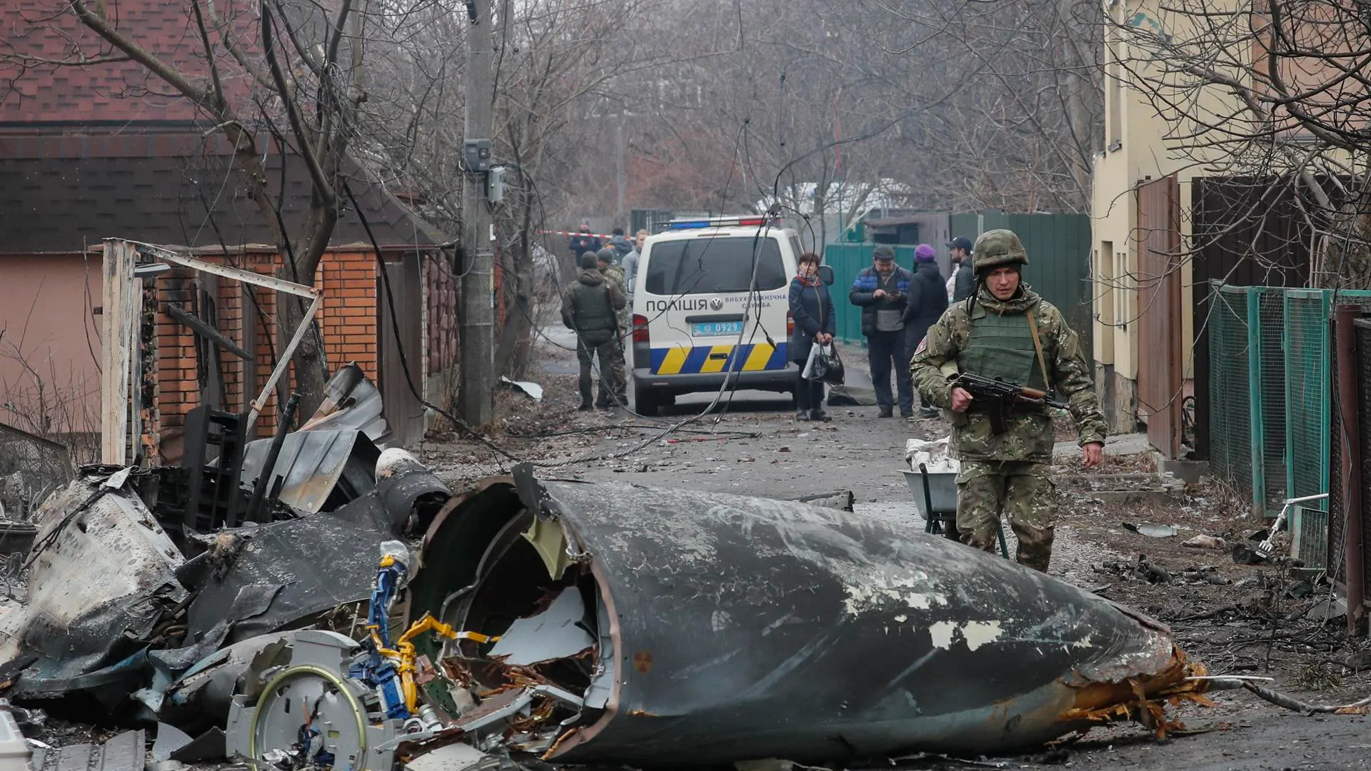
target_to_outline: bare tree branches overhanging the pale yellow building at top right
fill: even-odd
[[[1311,284],[1371,288],[1366,4],[1178,0],[1112,18],[1109,33],[1119,78],[1167,119],[1176,165],[1246,184],[1253,200],[1290,191],[1312,236]],[[1230,214],[1263,217],[1260,204]]]

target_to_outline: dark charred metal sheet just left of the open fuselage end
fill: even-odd
[[[322,516],[243,528],[247,545],[222,579],[210,579],[189,608],[192,637],[226,621],[226,643],[303,624],[313,616],[366,600],[376,578],[373,556],[393,538],[373,493]],[[240,594],[270,595],[265,610]],[[252,608],[236,613],[234,608]]]

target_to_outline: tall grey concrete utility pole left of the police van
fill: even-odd
[[[462,289],[458,305],[458,414],[472,428],[495,418],[495,252],[485,178],[491,162],[491,0],[466,0],[466,122],[462,174]],[[481,163],[484,143],[484,165]]]

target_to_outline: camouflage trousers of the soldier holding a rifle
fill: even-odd
[[[964,460],[957,475],[957,532],[961,542],[995,550],[999,514],[1019,536],[1020,565],[1047,572],[1057,520],[1057,486],[1047,464]]]

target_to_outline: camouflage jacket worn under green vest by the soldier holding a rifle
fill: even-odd
[[[1038,333],[1049,384],[1067,399],[1076,423],[1080,444],[1105,440],[1105,417],[1095,398],[1094,373],[1080,351],[1080,340],[1067,325],[1067,320],[1052,303],[1043,300],[1027,285],[1019,295],[1001,302],[980,287],[975,307],[971,300],[953,303],[942,314],[914,351],[909,372],[919,392],[934,405],[951,409],[951,386],[947,372],[954,370],[958,355],[967,348],[972,317],[983,313],[1036,314]],[[947,365],[951,365],[949,368]],[[1052,418],[1043,410],[1021,412],[1009,418],[1008,431],[995,436],[986,413],[953,414],[953,450],[960,458],[995,461],[1052,462],[1054,435]]]

